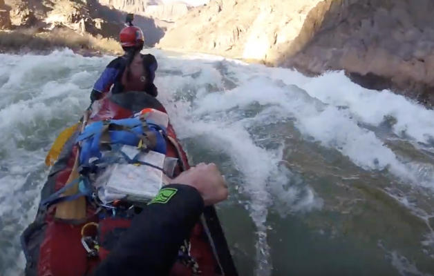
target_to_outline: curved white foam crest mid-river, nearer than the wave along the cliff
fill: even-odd
[[[390,166],[401,177],[408,177],[411,173],[375,133],[359,128],[348,110],[339,110],[334,106],[319,109],[298,90],[273,86],[272,81],[264,78],[252,77],[251,81],[234,90],[207,95],[196,101],[198,108],[194,112],[202,114],[236,106],[243,108],[254,102],[279,107],[281,115],[296,119],[296,126],[305,135],[314,137],[323,146],[336,148],[362,168],[383,169]],[[411,177],[412,181],[415,179]]]

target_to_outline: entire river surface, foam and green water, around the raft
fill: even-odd
[[[218,213],[240,276],[434,275],[433,111],[343,72],[152,52],[191,162],[229,181]],[[46,152],[110,60],[0,55],[0,275],[22,275]]]

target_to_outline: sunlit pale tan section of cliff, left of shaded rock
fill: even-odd
[[[274,60],[299,36],[320,0],[214,0],[194,8],[160,41],[163,48]]]

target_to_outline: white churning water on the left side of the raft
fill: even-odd
[[[42,148],[79,117],[88,101],[88,87],[106,62],[108,59],[77,57],[70,51],[46,57],[0,55],[0,220],[6,224],[2,234],[12,237],[8,239],[15,244],[2,248],[0,258],[17,264],[0,268],[2,275],[19,275],[23,270],[19,235],[35,218],[48,174]],[[82,72],[89,68],[91,78]],[[39,146],[40,141],[45,141],[44,146]]]

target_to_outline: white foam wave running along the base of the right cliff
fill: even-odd
[[[291,77],[288,77],[290,75]],[[415,101],[396,95],[389,90],[378,92],[361,88],[345,77],[344,72],[328,72],[321,77],[306,78],[292,72],[279,76],[287,84],[295,84],[312,97],[332,106],[347,106],[357,120],[378,126],[387,116],[397,119],[393,130],[397,135],[406,135],[416,141],[428,142],[434,137],[434,110],[426,110]]]

